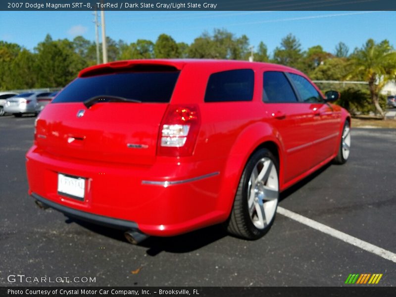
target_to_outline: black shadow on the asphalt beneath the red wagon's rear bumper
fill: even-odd
[[[122,230],[96,225],[76,218],[67,218],[65,222],[68,224],[76,223],[92,232],[109,237],[113,240],[128,243],[124,237],[124,231]],[[146,252],[150,256],[155,256],[162,251],[172,253],[186,253],[207,246],[226,236],[228,236],[228,234],[222,225],[214,225],[178,236],[151,236],[141,242],[139,246],[148,248]]]

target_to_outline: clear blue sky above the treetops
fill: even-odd
[[[0,11],[0,40],[33,50],[47,34],[52,39],[78,35],[95,41],[91,11]],[[334,52],[339,42],[349,51],[361,47],[369,38],[388,39],[396,46],[395,11],[106,11],[106,35],[116,41],[137,39],[153,42],[161,33],[176,42],[191,44],[204,31],[226,29],[243,34],[257,49],[262,41],[269,53],[281,39],[292,33],[302,49],[321,45]],[[100,17],[99,17],[100,21]],[[100,28],[99,28],[100,38]]]

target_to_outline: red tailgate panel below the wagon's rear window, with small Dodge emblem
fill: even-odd
[[[58,156],[152,164],[167,105],[108,102],[87,109],[79,102],[49,104],[37,120],[36,144]]]

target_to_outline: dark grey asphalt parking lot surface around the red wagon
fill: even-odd
[[[381,273],[378,286],[396,285],[392,260],[279,213],[258,241],[215,226],[133,246],[121,232],[41,210],[25,174],[34,120],[0,117],[0,286],[11,285],[10,274],[96,277],[73,286],[342,286],[351,273]],[[354,129],[347,164],[326,166],[279,205],[396,253],[395,148],[396,130]]]

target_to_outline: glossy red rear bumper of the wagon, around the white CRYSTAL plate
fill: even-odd
[[[150,166],[133,166],[53,156],[36,146],[26,154],[34,198],[82,219],[111,220],[114,228],[154,236],[178,235],[227,219],[218,201],[223,161],[158,158]],[[57,193],[58,173],[86,179],[84,201]]]

